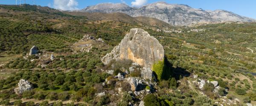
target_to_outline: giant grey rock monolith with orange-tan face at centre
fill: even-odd
[[[140,66],[152,68],[154,63],[163,58],[163,46],[158,40],[143,29],[133,28],[111,53],[102,58],[102,62],[108,64],[112,59],[131,59]]]

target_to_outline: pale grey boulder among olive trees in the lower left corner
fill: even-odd
[[[26,81],[24,79],[21,79],[20,82],[18,83],[18,87],[14,89],[14,92],[17,95],[22,94],[25,91],[29,91],[33,89],[32,84],[29,83],[29,81]]]

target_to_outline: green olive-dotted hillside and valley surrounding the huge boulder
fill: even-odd
[[[143,100],[145,106],[219,106],[227,105],[222,99],[239,99],[231,105],[256,104],[256,23],[168,26],[158,20],[143,22],[144,17],[121,14],[127,20],[106,18],[110,16],[120,14],[0,5],[0,103],[129,106]],[[142,87],[150,91],[149,95],[134,95],[130,84],[116,78],[118,73],[129,70],[131,61],[107,65],[101,61],[131,28],[143,28],[158,39],[165,50],[166,67],[161,63],[155,66],[171,70],[168,78],[159,78],[153,87]],[[96,40],[99,38],[103,42]],[[39,54],[28,56],[34,45]],[[55,56],[52,61],[50,54]],[[113,75],[102,70],[113,70]],[[126,77],[140,77],[140,72],[134,70]],[[30,81],[34,89],[15,94],[20,79]],[[220,89],[214,92],[211,83],[200,89],[193,81],[201,79],[218,81]],[[106,94],[98,96],[102,92]]]

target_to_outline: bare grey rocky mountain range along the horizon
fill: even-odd
[[[205,11],[182,4],[168,4],[165,2],[151,3],[140,8],[130,7],[123,3],[100,3],[88,6],[80,12],[89,13],[125,13],[131,17],[151,17],[162,20],[171,25],[191,25],[198,22],[255,22],[256,20],[243,17],[225,10]]]

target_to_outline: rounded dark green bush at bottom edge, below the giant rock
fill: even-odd
[[[145,106],[161,106],[160,100],[153,94],[148,94],[143,99]]]

